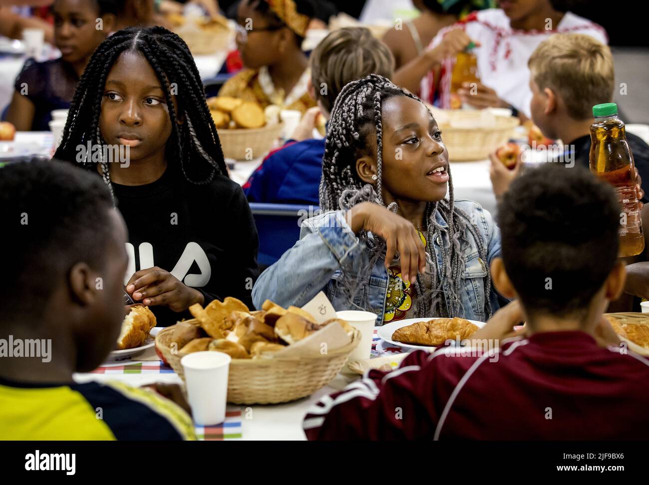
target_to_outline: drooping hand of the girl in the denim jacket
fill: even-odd
[[[373,202],[352,207],[347,217],[354,233],[364,229],[386,240],[386,268],[398,251],[404,281],[415,283],[417,273],[426,270],[426,248],[409,220]]]

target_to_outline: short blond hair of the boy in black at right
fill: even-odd
[[[554,34],[528,60],[539,90],[550,88],[572,119],[593,117],[593,106],[610,102],[615,87],[611,49],[586,34]]]

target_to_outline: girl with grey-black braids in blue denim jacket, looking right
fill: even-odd
[[[435,119],[387,78],[352,81],[337,97],[320,206],[324,213],[302,222],[300,241],[258,279],[257,305],[300,306],[324,290],[337,310],[372,311],[378,325],[484,322],[498,308],[489,277],[498,228],[476,202],[454,200]]]

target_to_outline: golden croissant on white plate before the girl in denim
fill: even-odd
[[[477,330],[477,325],[463,318],[434,318],[395,330],[392,340],[404,344],[438,346],[449,339],[469,338]]]

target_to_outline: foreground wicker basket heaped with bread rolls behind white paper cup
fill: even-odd
[[[236,298],[190,307],[195,318],[156,336],[163,362],[184,379],[180,359],[191,352],[219,351],[232,357],[228,402],[275,404],[310,396],[328,384],[360,341],[344,320],[319,322],[297,307],[267,300],[250,311]]]

